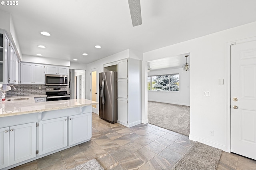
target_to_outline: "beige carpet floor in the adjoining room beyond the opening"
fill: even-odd
[[[148,101],[148,123],[188,136],[190,107]]]

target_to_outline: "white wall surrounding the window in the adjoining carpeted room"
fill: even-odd
[[[150,71],[150,75],[166,75],[178,73],[179,91],[148,91],[148,101],[157,101],[162,103],[171,103],[176,105],[190,105],[190,72],[179,69],[165,69],[159,71]]]

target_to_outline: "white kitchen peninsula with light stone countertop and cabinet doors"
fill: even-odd
[[[0,102],[1,170],[91,138],[92,105],[97,102],[70,99],[36,103],[31,96],[10,99]]]

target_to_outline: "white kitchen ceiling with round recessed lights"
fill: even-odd
[[[125,49],[143,53],[256,21],[256,0],[141,0],[142,25],[136,27],[128,0],[20,0],[0,10],[12,15],[22,55],[79,63]]]

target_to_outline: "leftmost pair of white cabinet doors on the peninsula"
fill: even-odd
[[[0,168],[36,157],[36,123],[0,129]]]

